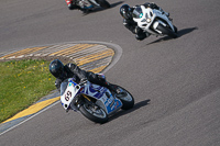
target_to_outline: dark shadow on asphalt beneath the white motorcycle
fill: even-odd
[[[180,30],[180,31],[178,31],[178,34],[177,34],[178,36],[177,36],[177,38],[178,38],[178,37],[182,37],[183,35],[186,35],[186,34],[188,34],[188,33],[191,33],[191,32],[195,31],[195,30],[198,30],[198,27],[189,27],[189,29]],[[152,45],[152,44],[160,43],[160,42],[162,42],[162,41],[169,41],[169,40],[173,40],[173,38],[169,37],[169,36],[165,36],[165,37],[158,38],[158,40],[156,40],[156,41],[154,41],[154,42],[152,42],[152,43],[148,43],[148,44],[146,44],[146,45]]]

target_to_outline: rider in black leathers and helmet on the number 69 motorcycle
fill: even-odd
[[[114,93],[120,92],[113,85],[107,82],[107,80],[103,79],[100,75],[82,70],[77,65],[72,63],[68,63],[64,66],[64,64],[59,59],[54,59],[50,64],[50,71],[56,78],[55,86],[59,92],[62,82],[67,78],[74,78],[77,83],[84,80],[89,80],[95,85],[107,87],[110,91],[113,91]]]

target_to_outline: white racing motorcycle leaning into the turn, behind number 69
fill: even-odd
[[[177,37],[177,27],[172,20],[162,11],[140,5],[133,11],[133,20],[144,32],[156,36],[168,35]]]

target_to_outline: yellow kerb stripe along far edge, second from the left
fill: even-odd
[[[96,45],[96,44],[95,44]],[[82,50],[82,49],[86,49],[88,47],[91,47],[91,46],[95,46],[95,45],[90,45],[90,44],[77,44],[75,46],[72,46],[72,47],[68,47],[68,48],[65,48],[65,49],[62,49],[62,50],[58,50],[58,52],[55,52],[53,54],[50,54],[50,56],[55,56],[55,55],[64,55],[64,54],[67,54],[67,53],[77,53],[79,50]]]

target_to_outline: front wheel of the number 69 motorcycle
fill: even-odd
[[[79,108],[79,111],[84,116],[89,119],[92,122],[96,123],[106,123],[108,121],[108,115],[106,111],[98,105],[96,105],[97,109],[94,109],[92,105],[85,103]]]

